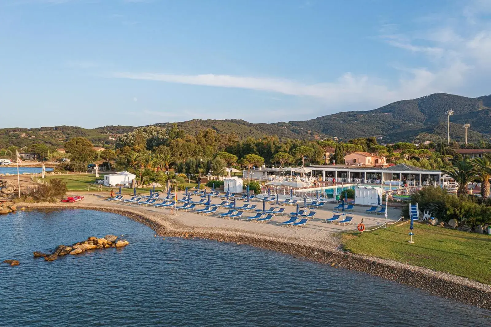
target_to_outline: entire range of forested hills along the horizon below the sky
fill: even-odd
[[[446,140],[445,111],[454,110],[451,121],[451,137],[463,141],[464,124],[469,123],[469,141],[478,141],[491,136],[491,95],[466,98],[458,95],[437,93],[413,100],[403,100],[368,111],[347,111],[305,121],[278,122],[273,124],[248,123],[239,119],[192,119],[177,123],[180,130],[190,135],[211,128],[218,134],[235,134],[238,139],[259,138],[275,135],[280,138],[326,138],[376,136],[381,143],[396,141]],[[155,126],[169,127],[171,123]],[[131,132],[133,126],[104,126],[85,129],[75,126],[41,128],[0,129],[0,148],[11,145],[24,147],[45,143],[62,147],[67,139],[84,136],[93,144],[113,144],[113,138]]]

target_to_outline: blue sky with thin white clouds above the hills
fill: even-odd
[[[491,93],[491,0],[1,0],[0,127],[304,120]]]

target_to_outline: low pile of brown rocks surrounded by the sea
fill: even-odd
[[[86,241],[74,243],[72,245],[58,245],[52,253],[44,253],[40,251],[33,252],[34,258],[44,258],[46,261],[54,261],[60,256],[66,254],[79,254],[87,250],[109,247],[123,247],[130,242],[126,240],[118,240],[115,235],[106,235],[103,238],[90,236]]]

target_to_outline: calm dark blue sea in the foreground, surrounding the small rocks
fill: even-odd
[[[88,236],[123,249],[33,259]],[[488,310],[250,246],[154,237],[87,210],[0,216],[0,326],[490,326]]]

